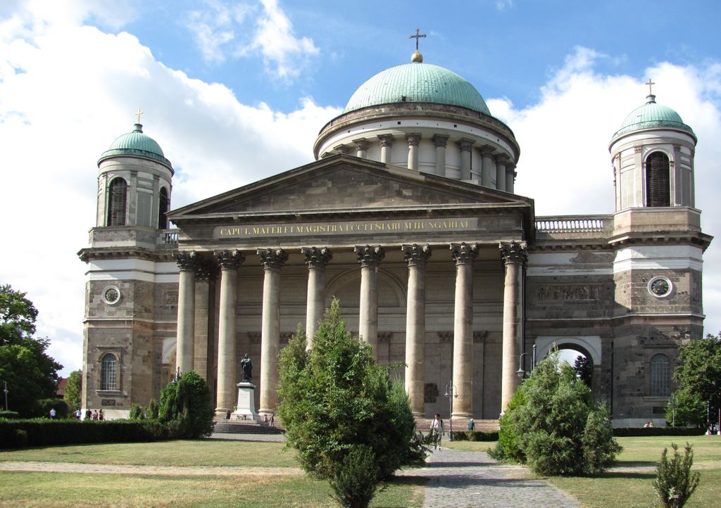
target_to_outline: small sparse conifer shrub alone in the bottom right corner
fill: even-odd
[[[673,455],[668,459],[668,448],[663,449],[661,460],[656,468],[653,488],[664,508],[681,508],[699,486],[699,473],[691,473],[694,452],[686,442],[684,456],[678,453],[678,445],[671,443]]]

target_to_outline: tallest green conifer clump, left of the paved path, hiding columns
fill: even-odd
[[[329,481],[344,506],[363,507],[402,465],[422,464],[426,449],[402,383],[389,378],[395,365],[376,363],[345,326],[334,299],[310,350],[300,328],[283,348],[278,416],[301,467]]]

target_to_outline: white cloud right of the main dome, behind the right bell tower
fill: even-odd
[[[655,81],[660,104],[672,107],[699,138],[696,146],[696,208],[704,232],[721,227],[721,64],[658,63],[642,76],[609,76],[595,70],[609,58],[588,48],[568,55],[541,98],[523,110],[508,99],[488,106],[503,118],[521,145],[516,192],[533,197],[537,215],[612,213],[614,181],[608,145],[626,115],[645,102],[645,81]],[[718,241],[718,240],[717,240]],[[716,242],[717,242],[716,241]],[[721,249],[704,254],[705,330],[721,330]]]

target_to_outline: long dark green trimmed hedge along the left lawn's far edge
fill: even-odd
[[[168,428],[154,420],[78,422],[72,419],[32,419],[0,422],[0,448],[143,442],[170,437]]]

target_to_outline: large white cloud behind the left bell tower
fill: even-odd
[[[96,161],[138,106],[177,171],[174,208],[311,161],[338,112],[310,99],[287,114],[247,106],[167,68],[133,35],[28,13],[3,25],[26,28],[0,32],[0,214],[12,246],[0,251],[0,281],[27,291],[38,334],[69,372],[82,359],[87,268],[76,252],[94,226]]]

